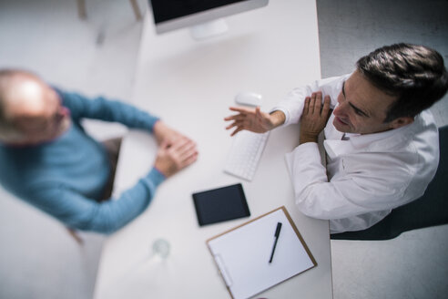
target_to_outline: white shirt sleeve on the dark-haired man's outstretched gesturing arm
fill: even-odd
[[[288,95],[271,109],[271,111],[280,110],[285,115],[284,126],[297,124],[300,121],[303,103],[306,97],[310,97],[313,92],[321,91],[322,98],[330,96],[330,108],[334,108],[338,103],[338,95],[341,92],[342,83],[350,77],[351,74],[341,77],[329,77],[312,82],[310,85],[301,88],[294,88]]]

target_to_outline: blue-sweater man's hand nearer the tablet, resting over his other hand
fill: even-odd
[[[166,178],[183,170],[198,159],[196,144],[185,137],[174,141],[163,141],[158,148],[154,167]]]

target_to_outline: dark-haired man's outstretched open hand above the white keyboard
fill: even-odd
[[[239,114],[225,118],[226,121],[232,121],[226,129],[232,129],[230,136],[237,134],[240,130],[247,129],[255,133],[265,133],[270,129],[280,126],[285,121],[285,115],[281,111],[274,111],[271,114],[261,112],[260,107],[257,108],[242,108],[230,107],[232,111],[239,112]]]

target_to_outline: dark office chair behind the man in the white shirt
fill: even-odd
[[[448,126],[439,129],[440,161],[423,196],[398,207],[359,232],[331,234],[332,240],[390,240],[402,232],[448,223]]]

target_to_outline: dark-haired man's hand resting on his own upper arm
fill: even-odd
[[[300,119],[300,144],[317,142],[321,130],[325,128],[330,118],[330,96],[325,96],[322,107],[322,93],[312,93],[305,98],[305,105]]]

